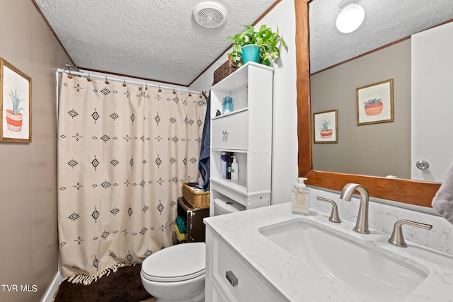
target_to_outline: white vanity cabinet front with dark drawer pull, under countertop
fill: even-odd
[[[206,232],[205,301],[287,301],[210,226]]]

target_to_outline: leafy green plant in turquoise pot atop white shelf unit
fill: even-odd
[[[233,46],[233,50],[228,56],[231,60],[236,62],[238,66],[242,66],[248,61],[270,66],[271,62],[280,57],[280,45],[286,49],[286,42],[280,37],[278,28],[277,31],[273,32],[272,29],[268,28],[266,25],[261,25],[258,31],[256,31],[252,25],[243,26],[246,30],[242,33],[226,38],[226,40],[231,41]],[[253,57],[253,54],[251,54],[249,57],[248,48],[254,48],[256,52],[258,52],[258,55],[255,54],[255,57]]]

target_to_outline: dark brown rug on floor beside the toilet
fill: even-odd
[[[73,284],[62,281],[54,302],[141,302],[156,301],[142,285],[140,269],[142,265],[120,267],[90,285]]]

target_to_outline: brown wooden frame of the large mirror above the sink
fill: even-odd
[[[313,170],[309,59],[309,2],[294,0],[296,12],[296,68],[297,68],[297,138],[299,177],[306,184],[328,190],[341,191],[349,182],[364,185],[370,197],[406,204],[431,207],[432,198],[440,182],[381,178],[367,175],[332,173]]]

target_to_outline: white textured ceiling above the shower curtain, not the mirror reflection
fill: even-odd
[[[222,0],[219,28],[192,18],[202,0],[35,0],[80,68],[187,86],[231,45],[226,37],[255,22],[275,0]]]

